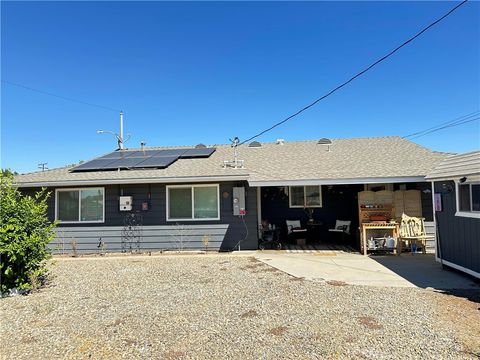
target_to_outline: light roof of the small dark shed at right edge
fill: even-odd
[[[427,179],[452,179],[472,175],[480,175],[480,151],[446,157],[427,175]]]

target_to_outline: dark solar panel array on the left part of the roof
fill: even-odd
[[[215,148],[167,149],[167,150],[117,150],[110,154],[87,161],[72,171],[103,171],[117,169],[165,169],[178,159],[210,157]]]

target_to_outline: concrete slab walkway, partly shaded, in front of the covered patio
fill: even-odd
[[[255,257],[285,273],[307,280],[336,280],[350,285],[480,291],[479,284],[471,278],[442,270],[430,254],[368,257],[333,251],[300,254],[258,251]]]

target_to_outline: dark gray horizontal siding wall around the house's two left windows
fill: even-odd
[[[243,219],[233,215],[232,189],[235,186],[244,186],[246,189],[247,215]],[[32,195],[37,190],[22,189],[21,191]],[[55,219],[55,189],[49,188],[48,190],[51,192],[51,197],[48,199],[48,217],[53,221]],[[124,218],[131,213],[119,210],[119,197],[125,195],[133,197],[132,212],[142,216],[145,246],[153,246],[158,250],[171,248],[172,246],[168,245],[172,242],[173,237],[170,232],[175,226],[184,225],[192,229],[189,248],[203,247],[203,244],[200,246],[202,237],[210,235],[212,249],[233,250],[241,240],[242,249],[256,249],[258,247],[256,191],[256,188],[248,187],[246,182],[220,183],[220,220],[177,223],[176,221],[166,221],[166,187],[164,184],[108,185],[105,186],[105,222],[60,224],[59,236],[52,242],[52,245],[56,249],[59,245],[71,249],[68,243],[75,238],[79,251],[91,251],[92,244],[95,244],[93,249],[95,250],[101,237],[107,243],[107,251],[121,249],[121,230]],[[142,203],[145,201],[149,203],[148,211],[141,210]],[[224,233],[219,232],[220,228],[225,229]],[[61,231],[65,234],[64,236],[61,235]],[[63,237],[70,240],[61,240]]]

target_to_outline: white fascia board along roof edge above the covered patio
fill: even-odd
[[[427,182],[424,176],[374,177],[351,179],[302,179],[302,180],[248,180],[250,186],[295,186],[295,185],[349,185]]]

